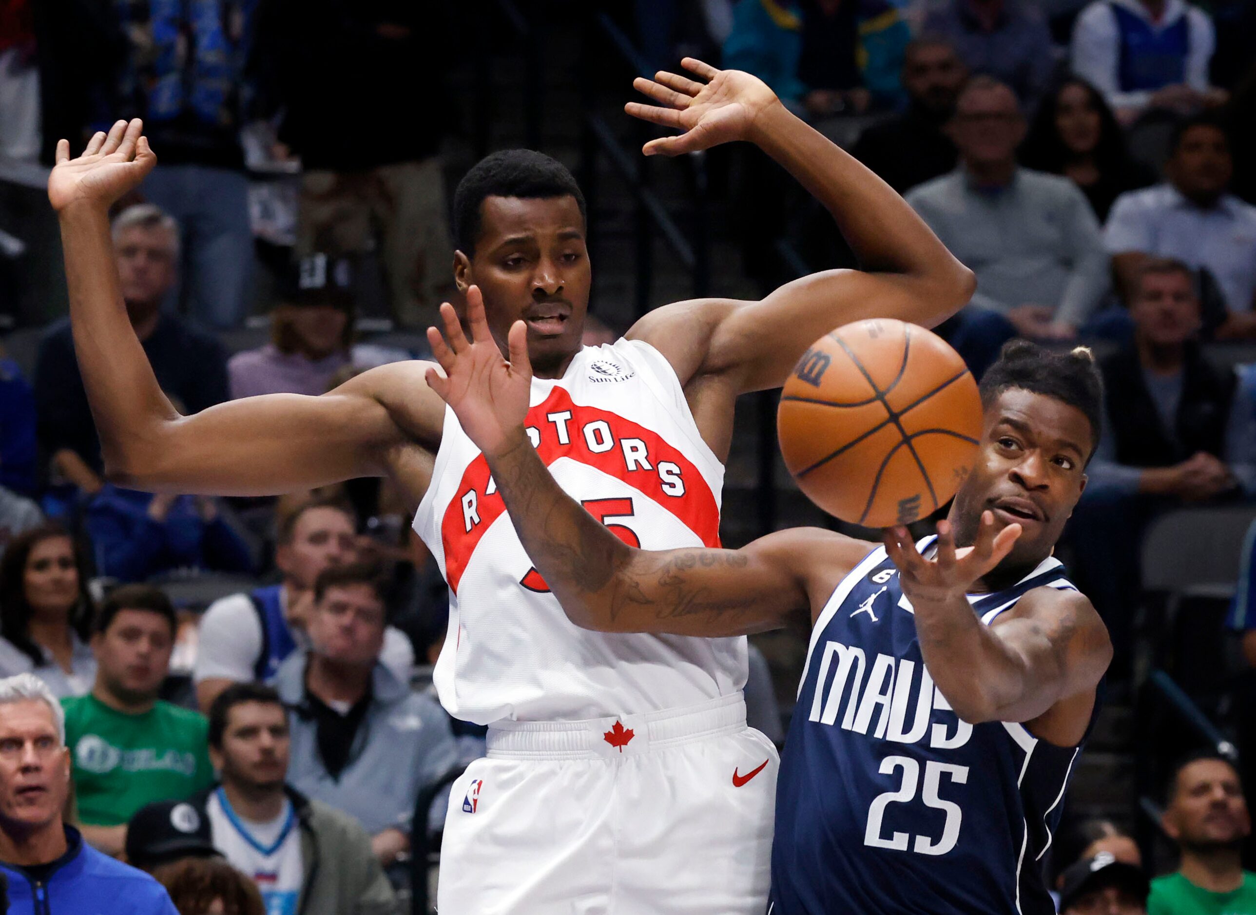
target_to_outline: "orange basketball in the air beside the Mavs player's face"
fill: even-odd
[[[811,344],[785,382],[776,432],[785,466],[820,508],[867,527],[906,525],[968,476],[981,398],[942,338],[877,318]]]

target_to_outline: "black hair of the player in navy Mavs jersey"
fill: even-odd
[[[1029,340],[1011,340],[981,379],[981,405],[988,408],[1011,388],[1054,397],[1081,410],[1090,422],[1086,459],[1094,457],[1103,429],[1103,375],[1089,349],[1078,346],[1056,353]]]

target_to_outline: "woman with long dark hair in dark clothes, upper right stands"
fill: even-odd
[[[1103,95],[1076,77],[1042,99],[1021,148],[1021,161],[1027,168],[1071,178],[1099,222],[1108,218],[1118,195],[1156,181],[1147,166],[1130,157]]]

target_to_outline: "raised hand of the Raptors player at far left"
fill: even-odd
[[[88,141],[83,154],[70,158],[69,141],[57,143],[57,164],[48,176],[48,200],[60,212],[72,203],[92,203],[108,210],[134,190],[157,164],[143,136],[144,123],[119,120],[106,134]]]

